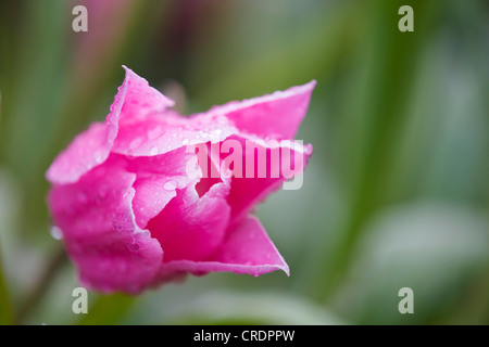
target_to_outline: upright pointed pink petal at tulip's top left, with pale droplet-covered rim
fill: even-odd
[[[126,79],[118,92],[124,99],[122,111],[117,113],[111,108],[106,118],[110,128],[117,130],[112,152],[153,156],[187,145],[218,142],[238,132],[222,115],[184,117],[167,110],[173,105],[172,100],[125,68]],[[114,105],[118,103],[114,102]]]

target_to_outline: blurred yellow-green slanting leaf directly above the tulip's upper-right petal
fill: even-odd
[[[266,25],[269,31],[255,33],[250,22],[263,25],[268,18],[263,17],[260,8],[250,4],[244,13],[247,20],[235,23],[222,41],[214,42],[214,36],[202,40],[202,44],[211,41],[217,48],[197,47],[191,54],[188,78],[196,101],[205,110],[213,104],[271,93],[311,79],[322,78],[324,82],[333,76],[359,37],[356,22],[363,7],[316,3],[313,9],[306,17],[305,14],[299,17],[303,23],[293,30],[286,22],[276,24],[276,31]],[[294,10],[289,8],[288,11]],[[298,20],[290,13],[285,17]],[[247,35],[241,38],[240,33]],[[256,44],[265,35],[271,37],[268,41]]]

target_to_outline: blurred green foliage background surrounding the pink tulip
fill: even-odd
[[[88,33],[72,30],[76,4]],[[488,20],[477,0],[2,0],[0,322],[488,324]],[[90,292],[72,312],[43,175],[105,117],[122,64],[184,114],[317,80],[304,184],[258,209],[290,278]],[[398,311],[405,286],[414,314]]]

